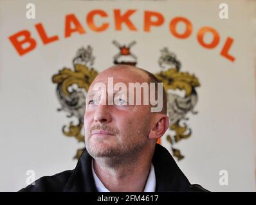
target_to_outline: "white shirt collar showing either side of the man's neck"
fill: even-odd
[[[93,171],[93,178],[95,181],[96,188],[98,192],[110,192],[107,188],[105,188],[104,184],[95,173],[93,167],[93,160],[91,160],[91,170]],[[151,171],[149,172],[149,176],[147,177],[147,182],[145,184],[145,188],[143,192],[155,192],[156,190],[156,174],[154,173],[154,166],[151,163]]]

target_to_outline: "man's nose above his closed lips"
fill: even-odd
[[[99,104],[95,111],[94,120],[95,122],[100,122],[100,123],[111,122],[109,106],[104,104]]]

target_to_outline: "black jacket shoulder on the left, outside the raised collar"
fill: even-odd
[[[66,170],[53,176],[44,176],[19,190],[19,192],[62,192],[73,170]]]

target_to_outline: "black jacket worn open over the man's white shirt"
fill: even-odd
[[[85,149],[74,170],[41,177],[35,185],[28,185],[19,192],[97,192],[91,160]],[[156,192],[207,192],[198,184],[190,184],[169,151],[159,144],[156,144],[152,163],[156,174]]]

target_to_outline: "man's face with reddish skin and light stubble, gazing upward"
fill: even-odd
[[[113,105],[109,105],[110,92],[95,92],[98,83],[108,84],[108,78],[113,78],[113,85],[118,82],[143,83],[147,76],[138,70],[105,70],[91,84],[86,98],[86,113],[84,115],[84,129],[86,149],[96,157],[125,157],[142,150],[148,142],[151,124],[149,105],[125,105],[125,99],[120,92],[113,91]],[[109,91],[109,90],[107,90]],[[127,89],[127,93],[129,93]],[[95,101],[95,94],[97,95]],[[134,99],[136,98],[134,92]],[[142,92],[143,95],[143,92]],[[104,104],[104,102],[107,102]]]

